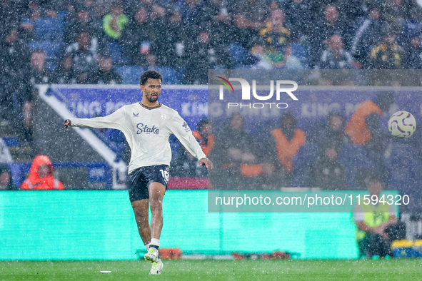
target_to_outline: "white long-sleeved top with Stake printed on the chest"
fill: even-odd
[[[174,135],[196,158],[206,158],[191,129],[179,113],[164,106],[149,108],[140,102],[123,106],[109,116],[73,118],[71,126],[113,128],[124,133],[131,148],[128,172],[151,165],[170,165],[169,136]]]

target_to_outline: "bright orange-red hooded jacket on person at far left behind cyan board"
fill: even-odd
[[[38,175],[39,166],[48,164],[50,166],[50,173],[45,178],[40,178]],[[64,185],[53,178],[53,164],[46,155],[38,155],[32,162],[29,177],[21,184],[21,190],[54,190],[64,189]]]

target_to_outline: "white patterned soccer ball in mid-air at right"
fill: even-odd
[[[408,138],[416,130],[416,120],[407,111],[397,111],[388,120],[388,130],[396,138]]]

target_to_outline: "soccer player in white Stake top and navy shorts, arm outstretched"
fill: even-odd
[[[66,119],[64,126],[113,128],[126,136],[131,147],[128,189],[134,209],[139,235],[145,244],[145,260],[152,263],[149,274],[160,274],[163,262],[159,257],[162,203],[169,182],[171,148],[169,136],[173,133],[189,152],[199,159],[199,165],[209,170],[213,163],[206,158],[188,124],[173,109],[159,103],[163,76],[149,70],[141,76],[142,100],[119,108],[109,116]],[[149,225],[151,205],[151,225]]]

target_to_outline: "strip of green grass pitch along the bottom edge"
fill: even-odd
[[[422,280],[421,259],[1,261],[0,280]],[[100,271],[111,271],[101,273]]]

